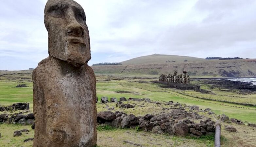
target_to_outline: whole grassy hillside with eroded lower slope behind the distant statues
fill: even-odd
[[[187,62],[184,60],[187,59]],[[165,62],[175,60],[176,62]],[[256,77],[256,59],[206,60],[196,57],[149,55],[121,62],[123,65],[91,66],[101,74],[171,74],[186,70],[194,76]]]

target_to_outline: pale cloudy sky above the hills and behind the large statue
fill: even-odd
[[[48,57],[46,1],[0,1],[0,70]],[[256,58],[255,0],[76,1],[89,28],[89,65],[151,54]]]

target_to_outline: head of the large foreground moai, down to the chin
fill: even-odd
[[[91,59],[90,37],[83,8],[73,0],[48,0],[44,8],[48,53],[75,66]]]

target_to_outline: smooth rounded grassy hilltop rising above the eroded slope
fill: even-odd
[[[188,62],[195,62],[195,61],[204,61],[203,58],[197,57],[188,57],[188,56],[176,56],[176,55],[160,55],[160,54],[153,54],[148,56],[136,57],[126,61],[121,62],[123,65],[137,65],[137,64],[163,64],[166,61],[175,61],[175,62],[184,62],[187,60]]]

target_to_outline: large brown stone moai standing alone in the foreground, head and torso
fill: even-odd
[[[96,80],[83,8],[48,0],[44,9],[49,57],[33,71],[33,147],[96,146]]]

